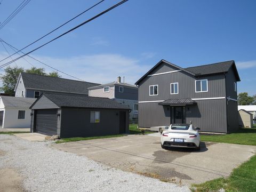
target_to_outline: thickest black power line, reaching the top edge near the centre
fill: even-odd
[[[5,67],[5,66],[7,66],[7,65],[10,65],[12,62],[17,61],[17,60],[19,60],[19,59],[22,58],[22,57],[25,57],[26,55],[28,55],[28,54],[30,54],[30,53],[32,53],[32,52],[34,52],[34,51],[36,51],[36,50],[42,48],[43,46],[45,46],[45,45],[47,45],[47,44],[49,44],[49,43],[55,41],[56,39],[58,39],[58,38],[60,38],[60,37],[62,37],[62,36],[64,36],[64,35],[70,33],[71,31],[73,31],[73,30],[75,30],[75,29],[77,29],[77,28],[79,28],[79,27],[85,25],[86,23],[88,23],[88,22],[90,22],[90,21],[92,21],[92,20],[94,20],[94,19],[97,19],[97,18],[100,17],[101,15],[103,15],[103,14],[105,14],[105,13],[107,13],[107,12],[113,10],[113,9],[115,9],[117,6],[123,4],[123,3],[127,2],[127,1],[128,1],[128,0],[123,0],[123,1],[121,1],[121,2],[119,2],[119,3],[117,3],[117,4],[115,4],[115,5],[113,5],[113,6],[111,6],[111,7],[109,7],[107,10],[102,11],[101,13],[99,13],[99,14],[95,15],[94,17],[92,17],[91,19],[88,19],[88,20],[82,22],[82,23],[79,24],[78,26],[76,26],[76,27],[74,27],[74,28],[72,28],[72,29],[66,31],[65,33],[59,35],[58,37],[53,38],[51,41],[49,41],[49,42],[47,42],[47,43],[45,43],[45,44],[43,44],[43,45],[37,47],[36,49],[34,49],[34,50],[32,50],[32,51],[27,52],[26,54],[21,55],[20,57],[14,59],[14,60],[12,60],[12,61],[9,61],[9,62],[7,62],[7,63],[4,63],[3,65],[0,66],[0,68],[3,68],[3,67]]]

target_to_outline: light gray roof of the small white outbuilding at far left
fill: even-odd
[[[34,102],[35,98],[21,98],[11,96],[1,96],[5,108],[29,108]]]

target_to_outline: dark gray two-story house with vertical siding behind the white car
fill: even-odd
[[[181,68],[161,60],[135,83],[139,127],[192,122],[204,132],[234,132],[239,81],[234,61]]]

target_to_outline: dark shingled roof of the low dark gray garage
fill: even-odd
[[[130,109],[109,98],[89,97],[86,95],[61,94],[61,93],[43,93],[34,103],[42,97],[50,99],[58,107],[79,107],[79,108],[101,108],[101,109]]]

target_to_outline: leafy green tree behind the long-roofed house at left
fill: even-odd
[[[57,71],[52,71],[51,73],[45,73],[44,68],[36,68],[32,67],[30,69],[24,69],[22,67],[7,67],[4,69],[5,74],[0,78],[2,80],[2,87],[0,87],[0,91],[3,91],[6,94],[14,95],[14,88],[18,81],[19,74],[21,72],[37,74],[37,75],[45,75],[51,77],[60,77]]]

